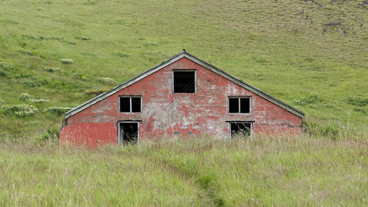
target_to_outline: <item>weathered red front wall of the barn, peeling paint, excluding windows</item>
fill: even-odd
[[[197,71],[196,93],[173,93],[173,69]],[[141,95],[142,113],[119,112],[119,96]],[[229,96],[250,96],[251,113],[229,114]],[[117,121],[142,120],[139,137],[229,136],[226,121],[254,121],[253,132],[299,133],[302,119],[185,57],[67,119],[60,140],[82,144],[117,142]],[[77,138],[76,138],[77,137]]]

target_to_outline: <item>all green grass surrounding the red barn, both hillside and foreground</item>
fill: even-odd
[[[368,206],[366,1],[25,0],[0,11],[1,205]],[[55,145],[64,110],[183,48],[305,112],[303,135]]]

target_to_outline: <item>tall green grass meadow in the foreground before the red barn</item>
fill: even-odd
[[[365,137],[0,145],[0,200],[30,206],[367,206]]]

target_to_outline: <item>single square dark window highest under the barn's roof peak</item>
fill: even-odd
[[[195,70],[174,70],[173,72],[175,93],[195,92]]]

